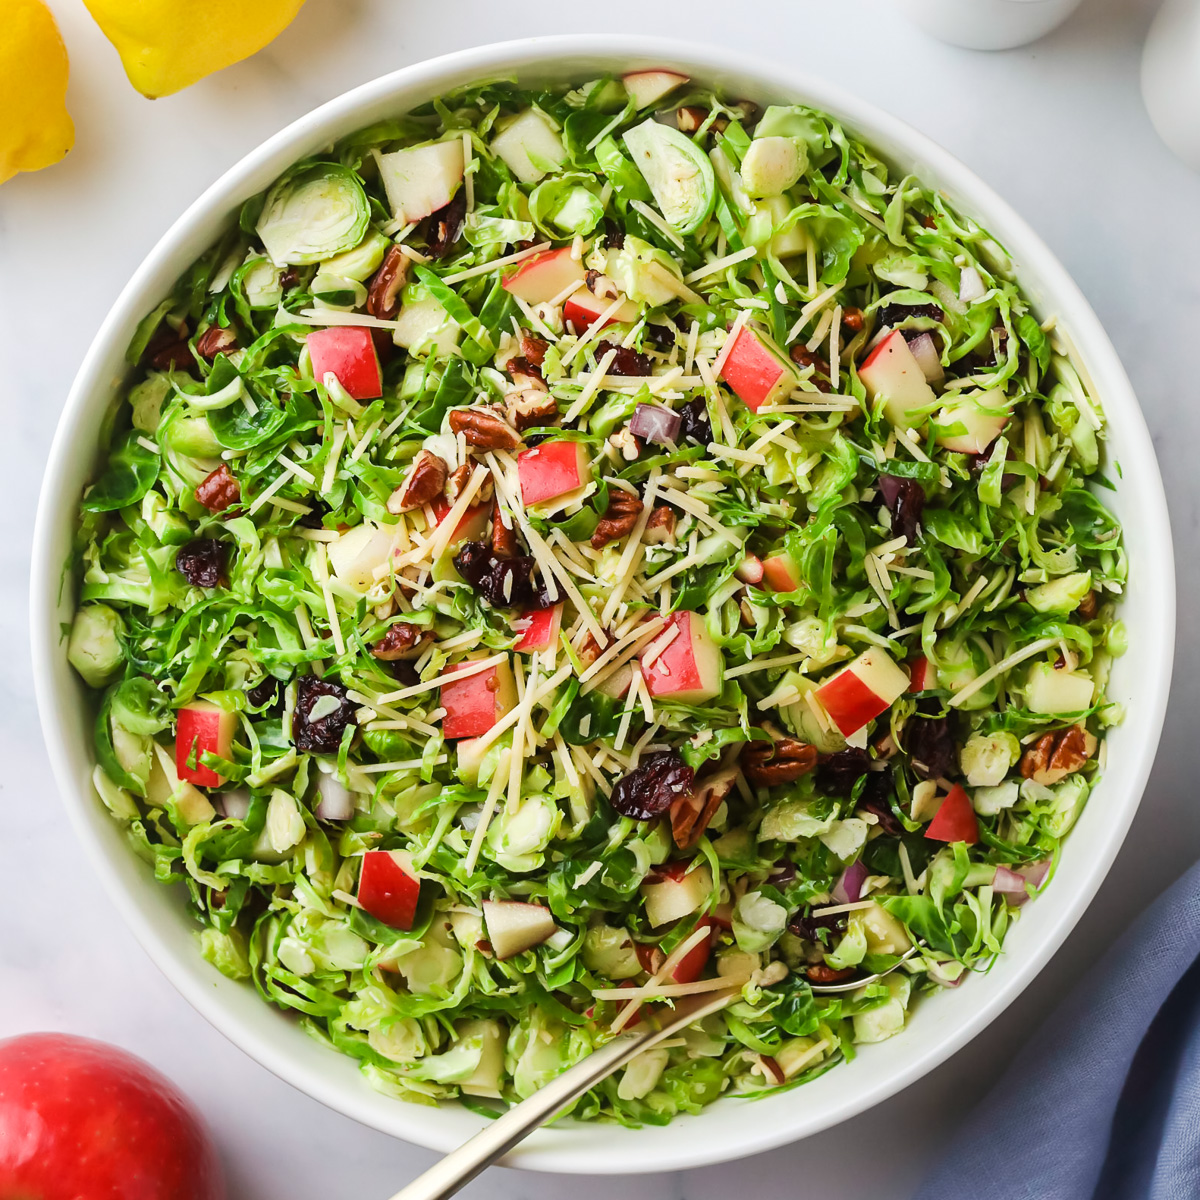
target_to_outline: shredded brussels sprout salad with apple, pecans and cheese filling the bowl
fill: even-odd
[[[986,970],[1097,779],[1097,397],[821,113],[468,88],[250,200],[128,358],[96,788],[390,1094],[494,1111],[726,986],[575,1114],[812,1079]]]

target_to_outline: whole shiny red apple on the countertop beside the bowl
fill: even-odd
[[[199,1112],[157,1070],[67,1033],[0,1042],[0,1196],[226,1200]]]

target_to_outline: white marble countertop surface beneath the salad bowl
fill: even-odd
[[[1148,793],[1111,877],[1054,962],[985,1034],[851,1124],[745,1164],[622,1181],[493,1171],[466,1195],[766,1200],[908,1195],[962,1115],[1081,971],[1200,856],[1200,640],[1189,553],[1200,522],[1195,372],[1200,178],[1162,148],[1138,94],[1153,0],[1086,0],[1044,42],[980,55],[930,42],[887,0],[731,7],[607,0],[310,0],[248,62],[149,102],[82,5],[52,0],[71,50],[77,146],[0,188],[0,400],[12,462],[0,506],[0,1036],[61,1028],[144,1055],[210,1115],[246,1200],[386,1196],[433,1156],[360,1128],[234,1049],[121,925],[50,781],[28,658],[30,532],[62,398],[100,319],[167,226],[221,172],[312,106],[385,71],[526,34],[644,30],[798,61],[890,108],[1002,192],[1062,258],[1108,326],[1158,446],[1180,554],[1174,704]],[[738,12],[736,18],[731,12]],[[1193,590],[1195,589],[1195,590]],[[748,1188],[748,1183],[750,1184]]]

